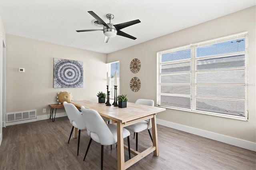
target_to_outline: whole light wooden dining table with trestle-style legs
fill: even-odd
[[[159,155],[158,150],[158,136],[156,128],[156,113],[165,111],[165,108],[154,107],[148,105],[140,105],[136,103],[127,102],[126,108],[114,107],[114,105],[106,106],[104,103],[98,103],[96,101],[72,101],[78,109],[84,106],[87,109],[96,110],[101,116],[109,118],[112,122],[117,125],[117,168],[118,170],[124,170],[150,154],[154,152],[155,156]],[[111,102],[110,102],[111,103]],[[140,121],[147,119],[152,120],[152,137],[153,145],[144,150],[143,152],[138,152],[131,148],[131,153],[135,156],[130,160],[124,160],[124,149],[128,150],[128,147],[124,145],[123,140],[123,128]],[[75,130],[77,131],[77,130]]]

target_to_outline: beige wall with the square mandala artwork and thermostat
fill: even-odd
[[[6,34],[6,112],[37,109],[50,113],[49,104],[58,103],[57,93],[68,91],[74,100],[97,99],[106,87],[106,54],[41,42]],[[53,59],[84,63],[83,88],[53,88]],[[25,72],[18,72],[24,68]],[[46,108],[46,113],[42,110]],[[57,113],[65,112],[58,109]]]

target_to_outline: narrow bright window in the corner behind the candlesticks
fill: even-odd
[[[109,82],[109,87],[108,87],[108,91],[110,91],[110,98],[114,99],[114,75],[116,72],[117,75],[117,80],[116,80],[116,85],[117,85],[117,95],[119,95],[119,61],[117,62],[113,62],[113,63],[108,63],[107,64],[107,72],[108,72],[108,76],[110,78],[110,82]]]

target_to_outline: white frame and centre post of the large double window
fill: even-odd
[[[238,116],[238,115],[229,115],[229,114],[224,114],[224,113],[212,113],[209,111],[199,111],[196,110],[196,61],[197,59],[200,59],[200,57],[196,57],[196,47],[198,44],[207,44],[207,43],[212,43],[214,41],[222,41],[228,40],[229,38],[235,38],[235,37],[240,37],[244,36],[245,37],[245,50],[244,50],[244,106],[245,106],[245,113],[244,116]],[[178,107],[171,107],[171,106],[166,106],[166,105],[161,105],[161,66],[163,65],[164,62],[161,61],[161,56],[163,53],[170,53],[170,51],[175,51],[176,49],[182,49],[184,47],[190,47],[191,49],[191,57],[190,57],[190,73],[191,73],[191,79],[190,79],[190,109],[184,109],[184,108],[178,108]],[[211,58],[211,57],[210,57]],[[170,72],[173,73],[173,72]],[[170,93],[171,95],[172,93]],[[158,107],[164,107],[167,109],[174,109],[174,110],[180,110],[180,111],[186,111],[186,112],[191,112],[191,113],[199,113],[199,114],[204,114],[204,115],[212,115],[212,116],[217,116],[217,117],[224,117],[224,118],[230,118],[230,119],[236,119],[236,120],[242,120],[242,121],[248,121],[248,32],[241,32],[237,34],[232,34],[229,36],[224,36],[220,38],[215,38],[212,40],[206,40],[204,42],[198,42],[198,43],[193,43],[190,45],[184,45],[182,47],[176,47],[172,49],[166,49],[162,51],[157,52],[157,106]]]

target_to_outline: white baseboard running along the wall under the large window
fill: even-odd
[[[234,145],[234,146],[238,146],[240,148],[245,148],[245,149],[248,149],[248,150],[256,151],[256,143],[250,142],[250,141],[247,141],[247,140],[233,138],[233,137],[226,136],[226,135],[223,135],[223,134],[218,134],[218,133],[214,133],[214,132],[210,132],[210,131],[206,131],[206,130],[202,130],[202,129],[198,129],[198,128],[193,128],[193,127],[188,127],[188,126],[180,125],[180,124],[177,124],[177,123],[163,121],[161,119],[156,119],[156,123],[158,125],[163,125],[165,127],[174,128],[174,129],[177,129],[177,130],[181,130],[181,131],[188,132],[188,133],[191,133],[191,134],[196,134],[198,136],[202,136],[202,137],[209,138],[209,139],[212,139],[212,140],[217,140],[219,142],[223,142],[223,143],[231,144],[231,145]]]

